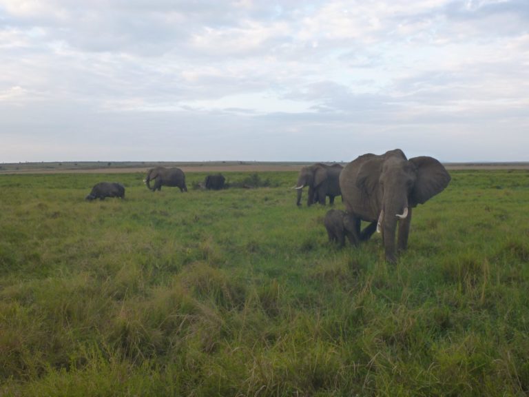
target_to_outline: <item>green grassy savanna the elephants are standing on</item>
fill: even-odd
[[[396,265],[329,245],[296,172],[0,175],[0,395],[525,396],[529,172],[450,174]]]

